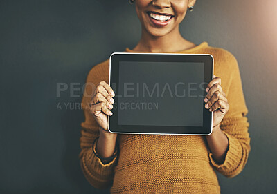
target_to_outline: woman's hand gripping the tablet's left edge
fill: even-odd
[[[114,91],[109,84],[105,81],[100,81],[89,103],[91,105],[91,113],[100,126],[100,132],[104,132],[105,134],[109,133],[107,115],[112,115],[111,109],[113,108],[112,104],[114,104],[112,97],[114,96]],[[109,135],[111,134],[109,133]]]

